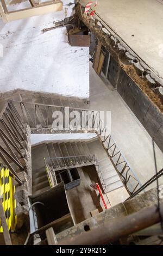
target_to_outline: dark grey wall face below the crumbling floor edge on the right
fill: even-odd
[[[103,70],[105,70],[104,63]],[[108,80],[163,151],[163,114],[111,56]]]

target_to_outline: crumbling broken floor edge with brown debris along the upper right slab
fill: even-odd
[[[79,1],[78,1],[79,2]],[[117,60],[121,68],[149,97],[155,106],[163,112],[163,80],[155,71],[141,60],[139,56],[113,31],[98,15],[86,19],[84,5],[77,3],[77,14],[85,25],[102,42],[104,47]]]

